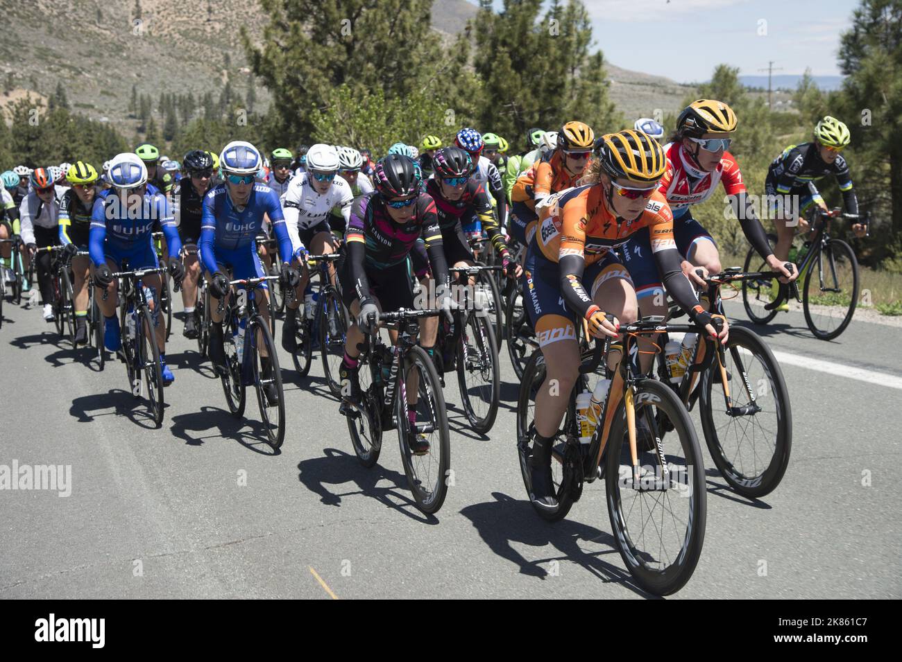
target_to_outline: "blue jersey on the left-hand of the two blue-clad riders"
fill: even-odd
[[[134,198],[135,196],[130,196]],[[169,203],[160,193],[147,190],[140,204],[122,203],[119,195],[106,192],[94,201],[88,251],[97,266],[106,262],[105,253],[117,255],[152,247],[153,224],[160,222],[170,255],[179,255],[181,241]]]

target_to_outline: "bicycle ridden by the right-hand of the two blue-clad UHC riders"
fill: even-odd
[[[272,333],[269,324],[263,321],[253,293],[263,283],[278,278],[278,276],[262,276],[230,280],[230,286],[242,286],[243,289],[230,297],[227,311],[224,299],[219,300],[216,308],[217,314],[226,313],[223,318],[226,369],[217,370],[217,373],[222,380],[229,412],[235,418],[244,415],[245,386],[253,384],[257,392],[260,416],[266,427],[267,440],[273,449],[280,448],[285,440],[285,394],[282,390],[279,356],[272,343]],[[265,349],[270,358],[272,372],[268,376],[263,374],[261,349]],[[266,394],[266,387],[269,385],[275,387],[276,402],[271,402]]]

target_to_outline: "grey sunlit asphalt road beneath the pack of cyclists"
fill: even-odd
[[[741,307],[730,312],[744,319]],[[506,352],[491,438],[465,429],[448,380],[455,485],[426,518],[393,433],[375,467],[358,463],[318,362],[302,380],[283,367],[288,432],[274,452],[253,421],[227,412],[181,322],[168,351],[176,382],[153,430],[120,364],[87,367],[87,349],[60,343],[36,309],[7,302],[4,315],[0,465],[68,465],[71,494],[0,490],[0,597],[647,597],[613,545],[603,481],[557,524],[525,500]],[[902,596],[902,330],[852,322],[824,342],[801,314],[784,313],[759,331],[783,355],[839,374],[784,363],[793,454],[760,501],[734,494],[702,443],[704,550],[674,597]],[[851,379],[844,367],[895,385]],[[248,414],[259,415],[253,401]]]

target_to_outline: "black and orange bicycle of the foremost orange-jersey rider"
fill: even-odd
[[[588,443],[580,443],[585,422],[577,419],[576,394],[589,390],[587,375],[609,354],[611,339],[595,340],[594,349],[581,354],[579,377],[569,395],[563,427],[553,442],[557,508],[548,512],[533,502],[543,519],[559,521],[579,500],[584,483],[603,477],[608,515],[623,563],[639,585],[657,595],[675,593],[695,571],[704,544],[707,503],[704,460],[686,408],[667,385],[643,375],[634,365],[639,355],[634,339],[639,335],[704,332],[695,324],[665,324],[663,319],[645,317],[621,326],[623,359],[612,375]],[[545,376],[545,359],[537,351],[527,362],[517,402],[517,449],[527,494],[532,494],[529,458],[535,396]],[[640,421],[648,435],[645,440],[653,440],[650,450],[640,445]],[[662,422],[669,422],[675,432],[667,449],[660,431]],[[657,540],[650,540],[656,536]]]

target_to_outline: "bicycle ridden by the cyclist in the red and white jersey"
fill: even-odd
[[[705,279],[713,310],[723,315],[721,287],[737,281],[771,277],[773,272],[744,273],[728,268]],[[673,312],[676,307],[671,307]],[[682,311],[668,315],[673,319]],[[667,336],[662,340],[666,343]],[[683,349],[685,352],[686,349]],[[716,360],[715,360],[716,359]],[[759,498],[773,492],[789,464],[792,450],[792,408],[777,358],[760,336],[731,326],[726,345],[699,336],[695,348],[683,354],[676,383],[667,360],[658,354],[658,376],[669,384],[691,412],[699,403],[704,440],[714,465],[737,493]],[[715,404],[715,389],[723,406]]]

